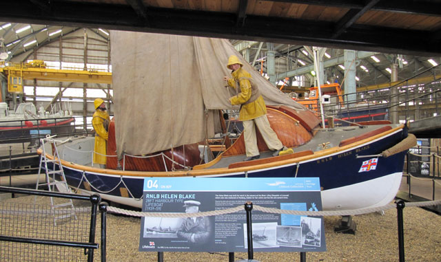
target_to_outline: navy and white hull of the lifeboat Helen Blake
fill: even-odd
[[[371,155],[377,155],[397,144],[402,140],[402,135],[403,130],[397,129],[357,146],[346,146],[344,150],[320,157],[249,171],[214,169],[212,173],[201,177],[319,177],[324,210],[383,206],[393,200],[398,191],[406,152],[387,158]],[[363,162],[371,159],[377,159],[375,168],[360,171]],[[96,170],[99,171],[98,168]],[[124,175],[124,171],[121,171],[121,175],[114,175],[108,170],[94,172],[79,165],[68,164],[64,166],[64,171],[72,188],[88,194],[99,193],[108,201],[138,208],[142,206],[143,179],[158,176],[142,172]],[[170,174],[164,173],[163,176]]]

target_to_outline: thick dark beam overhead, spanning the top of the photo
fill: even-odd
[[[335,23],[247,15],[246,23],[236,28],[236,14],[149,8],[148,26],[140,24],[128,5],[53,1],[52,12],[41,16],[28,0],[0,1],[0,20],[82,28],[105,28],[162,34],[183,34],[225,39],[242,39],[330,48],[439,56],[441,44],[430,39],[431,32],[371,25],[352,25],[338,39],[331,39]],[[439,9],[438,9],[439,10]],[[118,14],[118,19],[115,19]],[[154,21],[154,23],[153,23]],[[308,28],[308,30],[305,30]],[[246,32],[246,34],[245,34]],[[293,32],[296,32],[293,34]]]

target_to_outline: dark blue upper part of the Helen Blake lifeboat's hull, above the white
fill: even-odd
[[[396,176],[394,179],[400,178],[406,151],[387,158],[372,155],[380,154],[401,140],[402,130],[399,130],[360,146],[336,151],[304,162],[247,172],[212,173],[205,175],[205,177],[319,177],[320,186],[324,191],[351,188],[354,185],[362,185],[365,182],[376,181],[376,179],[391,175]],[[371,168],[369,171],[360,172],[363,162],[373,158],[378,159],[375,169]],[[103,194],[103,198],[113,196],[140,199],[143,195],[144,177],[92,173],[74,169],[71,166],[64,166],[64,171],[71,187],[86,190],[88,193]]]

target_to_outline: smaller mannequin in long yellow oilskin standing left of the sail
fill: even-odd
[[[101,168],[105,168],[107,162],[107,138],[109,133],[109,114],[106,112],[104,100],[96,98],[94,100],[95,113],[92,117],[92,126],[95,130],[95,146],[94,146],[94,163],[99,164]]]

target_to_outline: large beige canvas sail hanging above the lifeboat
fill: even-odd
[[[228,57],[243,59],[225,39],[112,31],[112,79],[117,153],[139,155],[212,138],[216,109],[229,105]],[[251,65],[267,105],[304,107]]]

